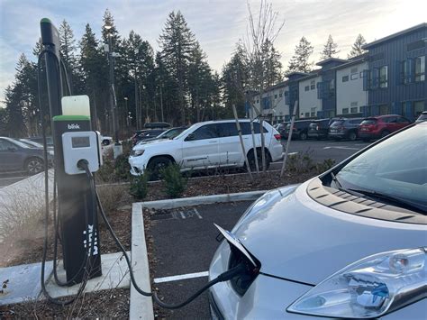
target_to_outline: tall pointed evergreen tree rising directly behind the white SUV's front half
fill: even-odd
[[[181,114],[181,123],[186,123],[186,80],[187,70],[195,36],[186,25],[181,12],[171,12],[159,37],[161,59],[168,70],[177,95],[177,112]]]

